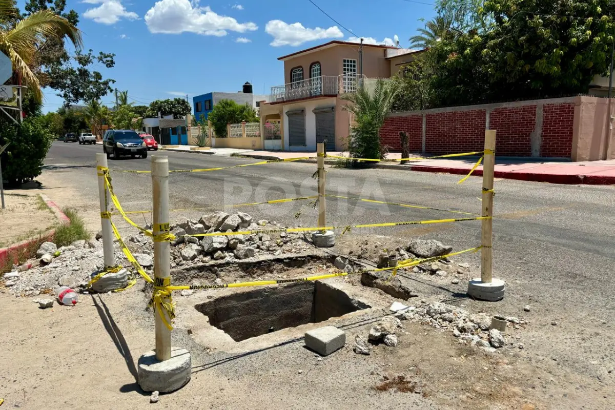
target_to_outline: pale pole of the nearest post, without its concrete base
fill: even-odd
[[[152,166],[153,234],[169,232],[169,158],[154,155]],[[154,242],[154,277],[156,282],[170,282],[171,243]],[[169,283],[170,284],[170,283]],[[156,317],[156,358],[171,358],[171,331],[164,325],[159,312]],[[170,322],[170,318],[166,320]]]

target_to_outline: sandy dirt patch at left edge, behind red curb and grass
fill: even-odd
[[[0,209],[0,248],[45,232],[57,223],[53,213],[36,192],[4,194],[5,209]]]

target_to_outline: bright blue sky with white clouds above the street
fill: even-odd
[[[357,36],[381,43],[397,34],[402,47],[424,25],[419,18],[435,14],[431,0],[314,2]],[[308,0],[68,0],[67,9],[79,13],[86,50],[116,54],[114,68],[97,68],[137,104],[236,92],[246,81],[268,94],[284,83],[277,57],[352,37]],[[45,112],[62,105],[54,90],[45,97]]]

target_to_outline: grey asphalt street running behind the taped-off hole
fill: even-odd
[[[98,212],[95,154],[102,147],[54,143],[46,159],[47,173],[62,178],[67,186],[77,187],[79,195]],[[171,170],[230,167],[258,162],[255,159],[223,157],[170,151],[150,151],[169,157]],[[151,208],[151,176],[121,170],[149,170],[148,159],[109,160],[113,186],[125,210]],[[206,211],[232,210],[237,203],[262,202],[315,195],[316,180],[311,178],[315,164],[274,163],[209,172],[172,173],[170,207],[199,210],[175,211],[171,221],[198,218]],[[458,184],[459,176],[404,170],[348,169],[327,166],[327,193],[365,199],[404,202],[426,207],[480,213],[482,178],[470,177]],[[499,304],[476,305],[477,310],[523,316],[523,306],[531,304],[535,325],[562,323],[555,337],[536,333],[536,344],[551,344],[549,354],[559,354],[580,373],[603,371],[598,363],[615,367],[613,342],[595,344],[592,337],[608,328],[613,334],[615,320],[615,271],[613,251],[615,229],[615,189],[612,186],[568,186],[496,179],[494,199],[494,276],[506,280],[507,297]],[[62,199],[57,199],[62,203]],[[62,205],[70,205],[70,198]],[[277,205],[244,206],[255,219],[269,219],[287,226],[314,226],[317,211],[296,201]],[[301,215],[295,218],[295,213]],[[327,224],[353,225],[426,219],[464,218],[466,215],[436,210],[378,205],[356,200],[327,199]],[[139,219],[140,218],[140,219]],[[149,214],[146,215],[149,221]],[[135,220],[143,222],[142,216]],[[341,230],[338,232],[341,233]],[[355,235],[386,247],[387,237],[437,239],[454,250],[480,245],[480,221],[352,229]],[[377,235],[382,235],[378,237]],[[464,254],[480,272],[480,256]],[[461,286],[461,285],[460,285]],[[450,292],[451,300],[461,295]],[[477,303],[462,299],[462,303]],[[527,315],[528,313],[526,313]],[[582,324],[582,325],[581,325]],[[566,325],[568,329],[564,331]],[[534,328],[535,330],[536,328]],[[573,344],[571,339],[581,337]],[[534,340],[534,339],[533,339]],[[611,337],[609,340],[613,340]],[[578,349],[584,353],[579,356]],[[600,358],[593,360],[592,358]],[[565,361],[563,362],[565,363]],[[589,366],[589,367],[588,367]]]

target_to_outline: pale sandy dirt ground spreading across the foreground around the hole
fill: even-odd
[[[97,231],[95,195],[54,178],[40,178],[49,187],[47,194],[61,206],[82,211],[90,229]],[[365,241],[368,245],[362,245]],[[402,243],[351,233],[339,242],[338,251],[347,254],[365,246],[365,254],[373,258],[381,248]],[[464,278],[477,274],[478,256],[459,261],[470,262],[474,270]],[[501,304],[484,304],[451,298],[451,290],[463,292],[464,281],[451,286],[450,278],[400,276],[421,294],[409,303],[446,301],[470,312],[522,317],[528,324],[510,329],[507,337],[518,336],[524,349],[486,353],[459,344],[450,332],[405,321],[397,347],[378,345],[370,356],[357,355],[352,351],[355,335],[365,336],[372,323],[389,313],[372,310],[347,321],[342,326],[346,347],[322,360],[305,349],[303,339],[226,353],[195,341],[188,332],[194,324],[178,315],[173,344],[191,352],[192,379],[150,404],[149,394],[136,383],[138,357],[154,346],[143,282],[122,293],[82,295],[74,307],[46,310],[39,309],[34,298],[15,298],[0,290],[0,398],[6,408],[23,409],[615,408],[611,372],[597,378],[586,371],[598,362],[611,364],[610,357],[595,357],[592,349],[593,344],[613,344],[606,322],[592,318],[582,327],[552,326],[548,310],[523,312],[514,296]],[[191,298],[175,301],[178,313],[193,308]],[[553,345],[561,333],[568,344]]]

